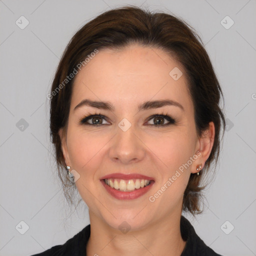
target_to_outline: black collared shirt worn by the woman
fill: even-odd
[[[186,241],[180,256],[221,256],[214,252],[195,233],[191,223],[181,215],[180,218],[181,237]],[[86,244],[90,236],[90,224],[68,239],[62,245],[55,245],[41,253],[31,256],[86,256]]]

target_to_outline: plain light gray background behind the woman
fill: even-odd
[[[185,216],[216,252],[256,255],[255,0],[0,0],[0,255],[38,253],[89,223],[85,204],[65,219],[46,94],[71,35],[122,4],[172,12],[201,36],[223,89],[228,126],[204,213]],[[21,15],[29,21],[24,29],[15,23],[25,24]]]

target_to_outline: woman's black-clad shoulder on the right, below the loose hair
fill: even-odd
[[[222,256],[208,247],[203,240],[196,234],[191,223],[184,216],[180,218],[180,232],[185,247],[180,256]]]

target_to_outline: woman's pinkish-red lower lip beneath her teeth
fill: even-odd
[[[110,187],[109,185],[107,185],[105,183],[105,181],[103,179],[100,180],[100,182],[102,183],[102,185],[104,186],[104,188],[106,189],[106,191],[111,194],[113,197],[115,197],[116,199],[119,200],[132,200],[132,199],[136,199],[139,196],[145,194],[153,185],[154,181],[152,180],[151,183],[147,186],[144,187],[140,187],[139,189],[135,189],[133,191],[119,191],[116,190],[112,187]]]

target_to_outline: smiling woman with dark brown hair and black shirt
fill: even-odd
[[[36,255],[219,255],[181,215],[201,212],[225,124],[199,40],[179,18],[133,6],[74,34],[47,97],[66,198],[77,188],[90,225]]]

